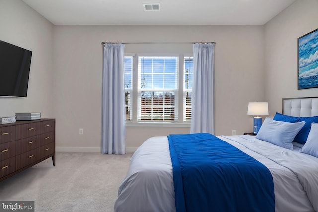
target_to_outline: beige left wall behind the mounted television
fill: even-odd
[[[27,98],[0,97],[0,116],[41,112],[54,118],[53,24],[20,0],[0,0],[0,40],[32,51]]]

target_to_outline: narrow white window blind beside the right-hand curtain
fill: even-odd
[[[191,121],[193,57],[184,57],[183,65],[183,121]]]

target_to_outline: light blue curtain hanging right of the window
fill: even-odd
[[[214,134],[214,45],[193,45],[191,133]]]

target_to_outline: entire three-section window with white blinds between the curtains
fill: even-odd
[[[189,122],[192,76],[193,57],[125,57],[126,122]]]

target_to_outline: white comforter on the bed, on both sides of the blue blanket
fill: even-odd
[[[256,139],[219,136],[272,173],[275,212],[318,212],[318,158]],[[115,212],[175,212],[172,164],[166,136],[152,137],[133,154],[118,190]]]

